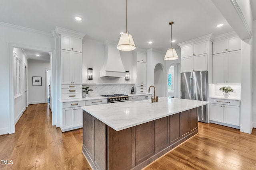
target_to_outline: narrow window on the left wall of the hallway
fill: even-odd
[[[13,55],[14,61],[14,97],[21,95],[21,75],[20,75],[20,63],[21,60],[14,53]]]

